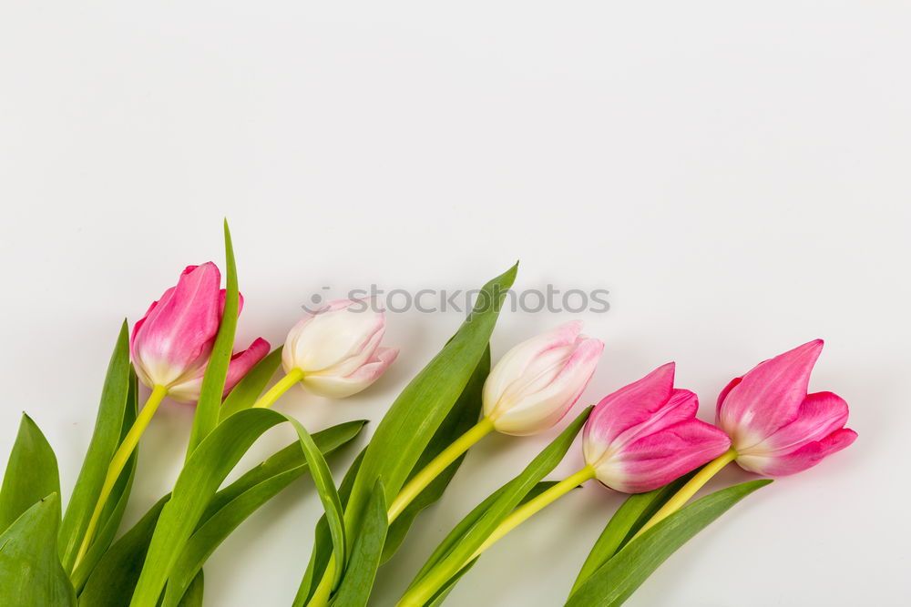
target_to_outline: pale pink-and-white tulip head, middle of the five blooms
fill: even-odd
[[[510,349],[484,384],[484,416],[505,434],[536,434],[568,413],[591,379],[604,343],[560,325]]]

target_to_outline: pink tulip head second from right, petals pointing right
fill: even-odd
[[[731,440],[696,419],[699,400],[674,388],[674,363],[601,400],[583,432],[595,477],[625,493],[651,491],[713,460]]]

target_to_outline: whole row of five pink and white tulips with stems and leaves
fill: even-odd
[[[312,556],[288,602],[366,605],[377,570],[420,511],[444,495],[466,451],[491,432],[525,436],[558,425],[604,348],[572,321],[517,344],[491,367],[487,343],[516,276],[511,268],[481,290],[462,327],[394,401],[336,483],[326,458],[365,422],[311,433],[271,408],[295,386],[343,399],[373,384],[398,354],[382,343],[384,313],[370,300],[335,301],[305,314],[282,348],[271,351],[256,339],[234,352],[243,299],[227,225],[225,236],[226,288],[215,264],[189,266],[131,331],[126,324],[121,330],[66,511],[54,451],[24,417],[0,490],[0,604],[200,605],[212,551],[309,474],[325,514],[315,521]],[[682,543],[770,482],[691,501],[719,470],[736,463],[763,477],[793,474],[855,440],[844,427],[844,400],[807,393],[822,349],[817,339],[732,379],[718,397],[714,424],[697,419],[695,393],[675,387],[673,362],[582,410],[525,470],[466,513],[397,604],[444,602],[455,583],[470,583],[466,573],[487,548],[595,480],[630,497],[606,517],[567,585],[567,604],[619,605]],[[273,382],[280,365],[283,375]],[[138,395],[147,391],[139,407]],[[123,530],[140,439],[165,399],[196,406],[186,462],[173,491]],[[252,442],[279,423],[291,424],[298,440],[224,485]],[[545,481],[579,432],[578,471]]]

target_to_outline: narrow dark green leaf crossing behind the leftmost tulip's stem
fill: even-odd
[[[138,412],[138,381],[136,373],[130,369],[129,392],[127,396],[127,407],[124,410],[123,427],[120,429],[120,440],[122,441],[127,432],[132,428]],[[133,450],[127,460],[127,465],[120,472],[114,488],[107,498],[105,507],[101,511],[98,519],[100,525],[95,534],[95,538],[88,546],[86,554],[79,561],[79,564],[70,575],[70,581],[73,582],[77,594],[82,591],[83,586],[88,580],[88,576],[95,569],[97,562],[110,547],[114,541],[117,532],[120,529],[120,522],[123,521],[123,514],[127,510],[129,494],[133,488],[133,479],[136,476],[136,462],[138,459],[138,447]]]

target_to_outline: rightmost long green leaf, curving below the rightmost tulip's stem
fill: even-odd
[[[735,503],[772,482],[742,482],[715,491],[660,521],[589,576],[570,597],[567,607],[616,607],[640,587],[658,566]]]

